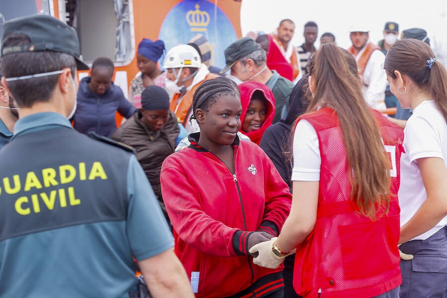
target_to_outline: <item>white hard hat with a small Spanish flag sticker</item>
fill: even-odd
[[[163,68],[200,68],[202,61],[196,49],[189,45],[178,45],[170,49],[164,58]]]

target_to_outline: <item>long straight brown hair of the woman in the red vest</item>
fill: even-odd
[[[309,67],[314,94],[307,112],[320,106],[337,114],[348,159],[351,200],[361,214],[374,220],[389,208],[389,160],[380,127],[362,94],[362,82],[350,63],[354,58],[345,52],[328,43],[315,53]]]

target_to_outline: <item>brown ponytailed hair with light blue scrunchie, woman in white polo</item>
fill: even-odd
[[[430,93],[447,121],[447,72],[438,61],[429,68],[431,58],[436,57],[428,44],[404,38],[389,49],[384,67],[392,78],[396,78],[394,71],[399,71],[409,76],[422,91]]]

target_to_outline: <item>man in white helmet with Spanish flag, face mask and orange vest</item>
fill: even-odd
[[[208,67],[202,63],[196,49],[190,45],[178,45],[170,49],[163,62],[166,69],[165,88],[174,93],[169,109],[177,116],[188,133],[198,127],[196,121],[188,121],[192,113],[192,100],[194,92],[207,79],[218,77],[212,74]]]

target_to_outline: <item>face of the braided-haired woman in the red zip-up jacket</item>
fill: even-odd
[[[240,99],[235,95],[222,95],[215,103],[204,111],[203,119],[199,119],[200,138],[209,142],[225,146],[231,145],[240,128],[240,114],[242,107]]]

